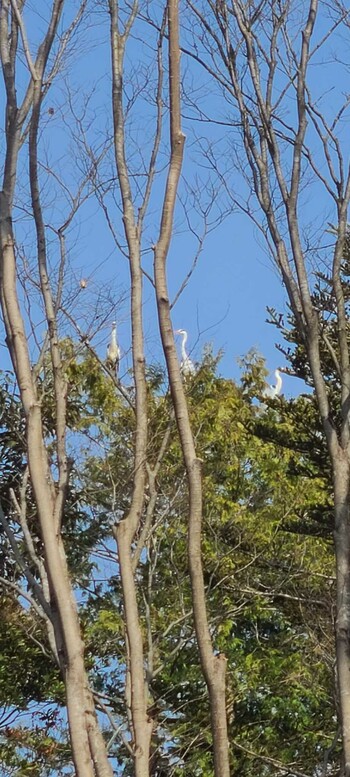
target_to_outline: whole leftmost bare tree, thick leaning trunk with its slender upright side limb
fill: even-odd
[[[26,418],[27,463],[26,479],[33,490],[40,535],[43,544],[43,564],[35,555],[27,530],[23,503],[18,514],[29,555],[38,566],[41,587],[23,569],[28,582],[46,615],[48,636],[65,683],[69,730],[73,760],[79,777],[110,777],[102,733],[97,723],[94,700],[84,665],[84,645],[80,633],[77,606],[70,580],[61,535],[69,478],[66,453],[66,381],[62,368],[57,331],[57,305],[50,284],[46,234],[42,215],[38,175],[38,128],[43,99],[60,65],[67,44],[85,9],[78,8],[70,27],[58,34],[63,0],[54,0],[49,9],[47,30],[32,55],[23,19],[24,3],[4,0],[0,10],[1,64],[6,92],[6,149],[0,193],[0,261],[1,307],[6,327],[7,344],[16,373]],[[19,45],[21,41],[21,45]],[[55,46],[54,46],[55,44]],[[51,53],[55,49],[54,57]],[[17,102],[16,65],[24,57],[28,83],[20,104]],[[33,214],[40,290],[48,325],[48,342],[53,370],[55,394],[56,461],[55,481],[45,446],[41,399],[32,370],[25,321],[17,290],[17,249],[13,228],[13,208],[19,152],[28,138],[29,186]],[[23,482],[22,497],[26,482]],[[3,513],[1,518],[6,528]]]

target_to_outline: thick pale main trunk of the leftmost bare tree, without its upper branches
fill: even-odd
[[[112,769],[104,752],[103,769],[94,770],[90,753],[87,720],[88,679],[84,665],[84,646],[65,551],[54,521],[55,493],[42,434],[40,404],[32,381],[23,319],[18,305],[14,239],[10,206],[4,193],[0,198],[1,303],[7,327],[7,339],[17,375],[26,415],[28,468],[38,511],[43,540],[57,652],[66,688],[67,714],[77,777],[111,777]],[[62,654],[62,645],[64,655]],[[93,708],[92,697],[90,699]]]

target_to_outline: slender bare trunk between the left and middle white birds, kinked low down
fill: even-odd
[[[123,114],[123,59],[125,43],[133,24],[137,4],[126,23],[124,33],[119,32],[118,5],[109,0],[111,17],[111,54],[113,76],[114,149],[119,179],[123,222],[129,251],[131,278],[131,328],[133,373],[135,381],[135,455],[134,481],[130,510],[114,529],[118,545],[120,577],[123,589],[125,625],[129,659],[129,686],[134,767],[136,777],[148,777],[153,723],[148,716],[148,693],[145,677],[145,656],[137,603],[135,572],[132,563],[132,543],[142,518],[147,457],[147,391],[145,376],[144,336],[142,321],[142,268],[141,226],[136,224],[132,191],[125,157]]]

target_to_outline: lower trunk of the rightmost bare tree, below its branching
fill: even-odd
[[[334,545],[337,579],[335,623],[339,707],[343,738],[343,774],[350,777],[350,465],[346,454],[334,467]]]

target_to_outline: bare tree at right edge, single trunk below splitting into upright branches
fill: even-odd
[[[325,25],[323,4],[308,0],[302,4],[305,19],[300,17],[297,28],[292,5],[284,4],[281,13],[276,13],[274,3],[257,8],[251,14],[249,3],[208,2],[199,7],[190,2],[196,24],[200,25],[199,40],[205,35],[206,51],[212,56],[206,60],[201,49],[202,62],[207,71],[217,79],[222,88],[226,80],[227,93],[231,90],[239,110],[238,124],[241,124],[246,161],[251,172],[252,189],[267,221],[266,233],[269,250],[272,246],[274,259],[286,286],[300,344],[308,352],[315,387],[320,418],[327,438],[332,464],[335,504],[335,556],[337,578],[336,657],[340,697],[340,717],[343,736],[343,767],[341,775],[350,775],[350,518],[349,518],[349,440],[350,440],[350,358],[348,348],[348,313],[346,283],[342,280],[342,262],[345,259],[344,246],[350,203],[350,172],[348,147],[343,146],[339,116],[343,107],[334,116],[325,116],[319,96],[314,92],[311,78],[313,57],[319,56],[324,46],[324,57],[332,61],[332,44],[327,50],[334,30],[337,34],[348,20],[339,6],[339,17],[333,27]],[[336,4],[335,4],[336,5]],[[203,11],[203,7],[205,11]],[[335,8],[335,6],[334,6]],[[211,18],[211,13],[214,18]],[[320,19],[317,22],[317,16]],[[320,23],[324,26],[319,35]],[[316,29],[317,27],[317,29]],[[316,42],[312,42],[315,33]],[[194,33],[195,34],[195,33]],[[262,34],[262,37],[261,37]],[[211,41],[211,43],[210,43]],[[239,44],[239,45],[238,45]],[[327,51],[327,53],[326,53]],[[198,61],[198,50],[193,51]],[[330,56],[331,55],[331,56]],[[215,62],[218,61],[216,69]],[[288,63],[290,84],[293,83],[294,118],[287,132],[281,133],[281,116],[287,110],[289,117],[291,92],[279,83],[281,62]],[[214,64],[213,64],[214,63]],[[225,71],[227,76],[225,78]],[[310,78],[309,78],[310,73]],[[286,130],[286,126],[284,127]],[[288,136],[288,137],[287,137]],[[315,143],[316,140],[316,143]],[[286,142],[290,141],[290,154],[285,153]],[[330,149],[332,148],[332,152]],[[333,154],[333,149],[336,149]],[[244,165],[243,165],[244,167]],[[331,343],[326,343],[329,309],[322,295],[315,305],[314,268],[309,263],[317,241],[305,238],[303,203],[305,197],[305,175],[314,174],[313,185],[321,183],[321,199],[329,196],[331,208],[336,208],[337,239],[332,260],[332,310],[336,328],[329,329]],[[246,171],[244,172],[246,180]],[[237,200],[233,195],[235,204]],[[250,197],[244,203],[243,211],[257,223],[255,208],[250,206]],[[286,222],[282,217],[286,216]],[[280,231],[280,226],[282,230]],[[261,222],[265,233],[264,220]],[[283,235],[285,232],[285,236]],[[304,232],[304,234],[303,234]],[[323,237],[323,227],[320,230]],[[288,236],[288,237],[287,237]],[[270,243],[271,239],[271,243]],[[317,284],[316,284],[317,285]],[[317,295],[316,295],[317,296]],[[327,294],[326,294],[327,297]],[[337,329],[337,342],[333,334]],[[298,338],[295,339],[297,343]],[[322,342],[323,341],[323,342]],[[340,382],[340,405],[337,415],[341,418],[340,433],[338,420],[334,421],[333,402],[335,394],[328,385],[329,363],[323,363],[324,345],[329,351],[337,381]],[[296,356],[297,352],[294,353]],[[288,360],[288,358],[287,358]],[[297,359],[296,359],[297,362]],[[327,368],[325,368],[327,364]],[[300,363],[299,363],[300,366]],[[330,402],[330,396],[332,402]]]

